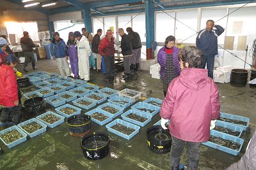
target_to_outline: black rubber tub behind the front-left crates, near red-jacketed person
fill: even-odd
[[[45,100],[44,97],[33,97],[24,101],[24,110],[30,113],[38,113],[44,110]]]

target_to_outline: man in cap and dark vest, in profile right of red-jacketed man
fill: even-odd
[[[122,48],[122,55],[124,56],[124,75],[123,78],[129,78],[131,75],[130,70],[130,60],[132,57],[132,41],[131,38],[124,33],[124,29],[119,28],[118,34],[122,37],[121,40],[121,48]]]

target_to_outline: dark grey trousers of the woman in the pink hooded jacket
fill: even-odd
[[[196,170],[200,157],[201,143],[182,141],[172,136],[172,147],[170,152],[170,162],[174,169],[179,167],[180,157],[183,152],[184,144],[187,144],[188,169]]]

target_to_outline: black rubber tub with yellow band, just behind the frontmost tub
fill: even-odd
[[[81,137],[91,130],[91,117],[89,115],[74,115],[66,119],[68,132],[71,136]]]

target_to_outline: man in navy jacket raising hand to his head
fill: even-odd
[[[216,29],[212,29],[215,27]],[[207,63],[208,76],[213,78],[214,56],[218,54],[218,36],[224,32],[223,27],[215,25],[213,20],[207,20],[206,28],[198,32],[196,47],[203,52],[202,69]]]

